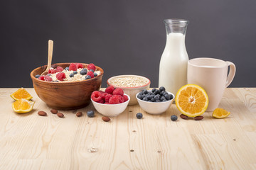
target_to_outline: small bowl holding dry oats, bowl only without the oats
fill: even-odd
[[[124,77],[139,77],[139,78],[145,79],[147,83],[142,86],[132,86],[132,87],[116,86],[110,83],[112,79],[124,78]],[[129,101],[129,105],[135,105],[138,103],[136,99],[136,94],[139,93],[139,91],[142,91],[144,89],[148,90],[150,86],[150,80],[146,77],[137,76],[137,75],[119,75],[119,76],[110,77],[110,79],[107,79],[107,86],[114,86],[114,88],[122,89],[124,91],[124,94],[128,94],[131,98],[131,100]]]

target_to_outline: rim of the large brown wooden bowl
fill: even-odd
[[[75,63],[75,62],[60,62],[60,63],[53,63],[53,64],[56,64],[56,65],[58,65],[58,64],[71,64],[71,63]],[[79,63],[81,63],[81,64],[83,64],[83,65],[85,65],[85,66],[87,66],[88,64],[87,63],[82,63],[82,62],[79,62]],[[43,66],[40,66],[40,67],[36,67],[36,69],[41,69],[41,68],[46,68],[47,67],[47,65],[43,65]],[[66,81],[66,82],[62,82],[62,81],[59,81],[59,82],[54,82],[54,81],[42,81],[42,80],[40,80],[40,79],[36,79],[36,77],[35,76],[33,76],[33,73],[34,72],[36,72],[36,69],[33,69],[32,71],[31,71],[31,74],[30,74],[30,76],[31,76],[31,79],[33,80],[33,81],[37,81],[38,83],[42,83],[42,84],[54,84],[54,85],[60,85],[60,84],[65,84],[65,85],[74,85],[74,84],[82,84],[82,83],[84,83],[85,81],[92,81],[92,80],[94,80],[94,79],[100,79],[102,76],[103,76],[103,74],[104,74],[104,70],[101,68],[101,67],[98,67],[98,66],[96,66],[95,65],[95,67],[96,67],[96,69],[99,69],[100,70],[100,75],[99,76],[97,76],[97,77],[93,77],[93,78],[91,78],[91,79],[87,79],[87,80],[79,80],[79,81]]]

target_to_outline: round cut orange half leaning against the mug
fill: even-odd
[[[178,111],[188,117],[202,115],[208,107],[206,91],[196,84],[186,84],[178,90],[175,99]]]

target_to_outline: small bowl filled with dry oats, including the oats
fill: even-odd
[[[150,83],[151,82],[148,78],[139,75],[119,75],[107,79],[107,86],[120,88],[124,91],[124,94],[128,94],[130,96],[129,105],[135,105],[138,103],[136,94],[144,89],[148,90]]]

